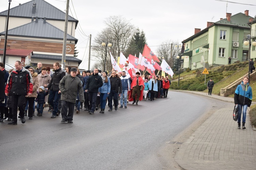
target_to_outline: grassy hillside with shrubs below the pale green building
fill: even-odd
[[[221,88],[225,88],[230,83],[236,81],[240,77],[248,73],[248,62],[239,62],[230,65],[222,65],[214,68],[209,68],[209,74],[206,74],[206,81],[204,81],[204,74],[201,71],[184,71],[180,74],[180,86],[178,86],[178,75],[173,76],[170,89],[174,90],[190,90],[190,91],[204,91],[207,90],[207,82],[210,78],[214,81],[214,88],[212,93],[219,95]],[[250,75],[250,86],[253,91],[256,88],[256,76]],[[204,84],[205,82],[205,84]],[[236,85],[237,86],[237,85]],[[225,96],[233,96],[236,86],[232,88]],[[256,96],[253,96],[253,101],[256,101]]]

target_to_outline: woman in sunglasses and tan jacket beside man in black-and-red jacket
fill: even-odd
[[[28,71],[31,73],[32,75],[32,80],[33,80],[33,93],[28,96],[26,95],[25,99],[25,103],[26,103],[26,108],[25,108],[25,116],[27,116],[27,110],[28,110],[28,119],[32,119],[34,112],[35,112],[35,98],[37,98],[37,89],[39,86],[39,79],[38,79],[38,75],[35,72],[34,67],[29,67]]]

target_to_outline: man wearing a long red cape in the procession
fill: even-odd
[[[143,90],[144,90],[144,81],[140,77],[140,72],[136,73],[136,77],[132,80],[131,83],[131,91],[129,96],[129,101],[132,101],[132,104],[136,102],[136,105],[138,105],[138,101],[142,101],[143,99]]]

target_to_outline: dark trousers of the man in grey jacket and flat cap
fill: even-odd
[[[61,101],[61,117],[64,120],[73,120],[75,103]],[[69,110],[69,112],[68,112]]]

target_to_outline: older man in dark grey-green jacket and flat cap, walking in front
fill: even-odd
[[[82,81],[79,77],[76,76],[76,71],[77,69],[75,67],[71,68],[70,74],[64,76],[59,82],[62,106],[61,123],[73,123],[73,114],[77,92],[79,93],[80,101],[84,102],[84,91]]]

